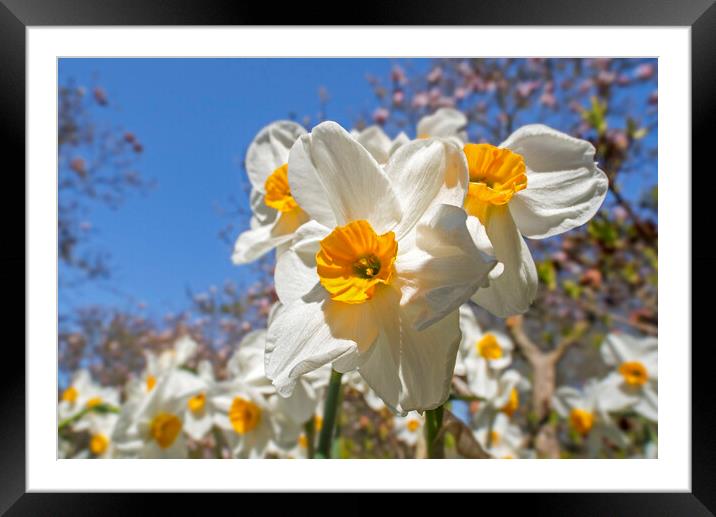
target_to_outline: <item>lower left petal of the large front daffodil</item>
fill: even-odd
[[[301,375],[370,347],[377,334],[367,304],[333,302],[321,286],[282,308],[266,340],[266,374],[286,397]]]

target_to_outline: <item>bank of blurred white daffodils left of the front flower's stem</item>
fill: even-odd
[[[308,453],[305,424],[322,424],[324,391],[330,368],[301,378],[288,398],[279,397],[264,374],[266,330],[255,330],[238,344],[227,363],[228,378],[217,381],[212,365],[186,365],[197,344],[179,339],[160,355],[148,353],[142,374],[123,390],[92,381],[79,370],[60,395],[60,430],[86,433],[87,444],[74,457],[186,458],[187,438],[207,439],[231,457],[301,458]],[[383,404],[358,376],[344,382],[362,393],[372,409]],[[60,441],[59,454],[71,454]]]

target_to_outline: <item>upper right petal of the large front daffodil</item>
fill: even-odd
[[[390,157],[385,172],[403,208],[400,240],[432,207],[462,207],[468,185],[465,153],[439,140],[414,140]]]

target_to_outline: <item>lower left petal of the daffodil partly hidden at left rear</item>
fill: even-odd
[[[234,264],[246,264],[265,255],[275,247],[289,242],[293,233],[308,217],[302,210],[282,213],[274,223],[246,230],[234,245],[231,260]]]

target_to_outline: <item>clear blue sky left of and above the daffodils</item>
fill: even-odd
[[[119,210],[92,212],[95,244],[110,251],[112,279],[63,290],[63,306],[121,307],[131,294],[150,314],[186,306],[186,289],[233,279],[251,281],[251,266],[234,266],[218,237],[228,222],[216,203],[244,199],[241,161],[267,123],[316,116],[319,87],[330,94],[327,114],[350,126],[376,104],[366,74],[386,77],[394,61],[287,59],[63,59],[60,84],[102,86],[110,104],[103,120],[131,130],[144,145],[137,169],[157,181],[146,196]],[[427,62],[414,66],[427,67]],[[98,117],[99,118],[99,117]],[[248,220],[236,221],[248,226]],[[62,307],[61,307],[62,309]]]

